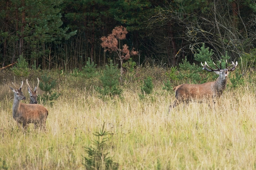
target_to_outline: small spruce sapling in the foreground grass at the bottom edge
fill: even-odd
[[[118,164],[114,162],[113,157],[109,156],[107,141],[109,132],[104,130],[104,125],[100,132],[94,133],[98,138],[92,142],[93,146],[85,147],[85,152],[88,156],[83,157],[83,165],[87,170],[117,170]]]

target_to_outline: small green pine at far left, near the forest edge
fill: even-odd
[[[17,63],[12,68],[12,71],[16,76],[19,76],[19,77],[28,76],[29,74],[28,62],[26,62],[25,58],[23,57],[23,53],[17,59]]]

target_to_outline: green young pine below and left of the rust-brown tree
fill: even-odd
[[[117,69],[117,65],[110,61],[110,64],[106,65],[103,75],[99,78],[102,82],[103,88],[96,87],[96,90],[102,95],[120,95],[123,90],[118,87],[120,72]]]

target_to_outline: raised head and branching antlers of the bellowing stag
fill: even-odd
[[[221,66],[221,61],[219,61],[220,66]],[[202,64],[202,63],[201,63]],[[228,77],[228,73],[229,71],[234,71],[237,67],[237,62],[236,64],[234,64],[234,62],[232,62],[232,64],[230,66],[227,66],[227,60],[226,60],[226,68],[222,69],[222,66],[220,68],[218,68],[218,66],[213,62],[213,64],[217,67],[217,69],[212,69],[211,67],[208,66],[208,64],[205,62],[203,66],[203,70],[207,70],[207,71],[214,71],[216,74],[219,74],[219,79],[221,80],[225,80]],[[207,68],[207,67],[209,68]],[[232,67],[233,66],[233,67]],[[230,68],[232,67],[232,68]]]

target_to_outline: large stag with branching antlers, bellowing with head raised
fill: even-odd
[[[219,61],[221,63],[221,61]],[[226,61],[226,68],[222,69],[221,67],[218,68],[218,66],[213,63],[217,69],[212,69],[208,66],[208,64],[205,62],[203,65],[203,70],[207,71],[214,71],[216,74],[219,74],[219,77],[214,82],[207,82],[203,84],[181,84],[179,86],[176,86],[173,88],[175,90],[175,98],[176,101],[173,103],[173,105],[170,105],[169,111],[172,107],[177,106],[181,102],[189,102],[192,100],[202,100],[202,99],[209,99],[209,98],[216,98],[220,97],[223,93],[223,91],[226,88],[227,85],[227,77],[229,71],[234,71],[237,67],[237,62],[227,67],[227,61]],[[206,67],[208,66],[209,69]],[[231,69],[230,67],[233,66]]]

